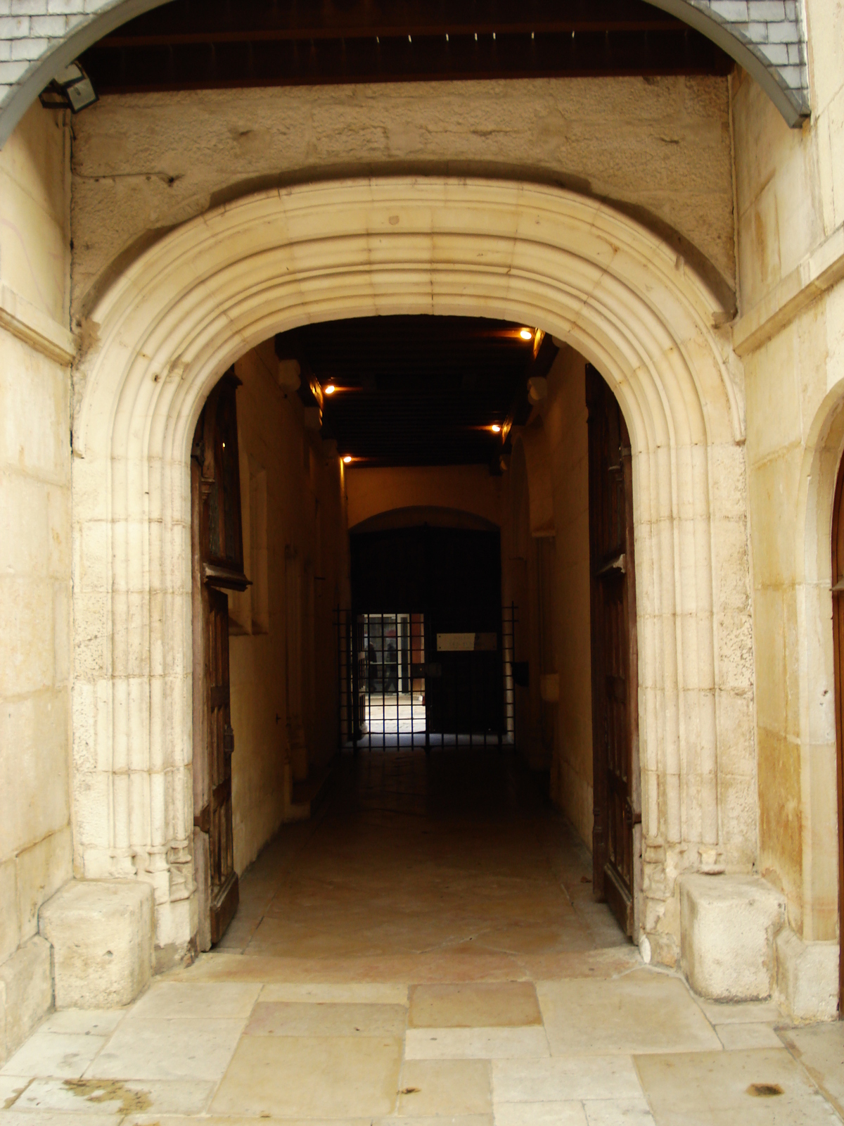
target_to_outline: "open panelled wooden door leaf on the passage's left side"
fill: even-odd
[[[237,910],[232,835],[228,598],[245,590],[235,392],[225,375],[197,423],[191,458],[194,556],[194,856],[200,949]]]

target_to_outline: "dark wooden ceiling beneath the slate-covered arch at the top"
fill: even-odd
[[[173,0],[82,61],[100,93],[733,66],[640,0]]]

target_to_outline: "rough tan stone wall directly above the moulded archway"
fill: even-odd
[[[432,172],[613,200],[735,285],[727,82],[568,79],[102,98],[74,122],[74,311],[173,224],[272,185]]]

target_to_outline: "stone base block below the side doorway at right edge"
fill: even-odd
[[[835,1020],[838,944],[803,942],[785,927],[776,936],[776,1003],[794,1020]]]

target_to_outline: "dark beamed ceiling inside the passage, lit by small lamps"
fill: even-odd
[[[528,378],[556,352],[532,325],[468,316],[368,316],[276,337],[279,359],[302,367],[303,400],[322,399],[323,437],[367,465],[497,472],[509,426],[530,413]]]

